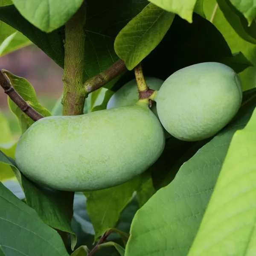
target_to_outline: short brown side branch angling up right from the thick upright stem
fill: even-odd
[[[108,67],[103,72],[99,73],[97,76],[89,79],[84,83],[84,89],[87,94],[98,90],[105,84],[107,84],[112,79],[116,78],[122,72],[126,71],[125,63],[122,60],[116,61],[112,66]]]

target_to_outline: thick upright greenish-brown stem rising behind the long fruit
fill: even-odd
[[[63,74],[63,115],[83,114],[85,92],[84,74],[84,24],[86,20],[86,1],[84,1],[65,25],[65,58]]]

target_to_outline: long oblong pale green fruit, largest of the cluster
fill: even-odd
[[[163,127],[147,104],[35,122],[17,143],[20,171],[44,186],[91,191],[139,175],[160,156]]]

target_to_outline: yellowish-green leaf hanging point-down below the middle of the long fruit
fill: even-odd
[[[105,230],[115,227],[120,213],[131,201],[139,179],[135,177],[119,186],[93,192],[84,192],[86,209],[95,230],[95,239]]]

